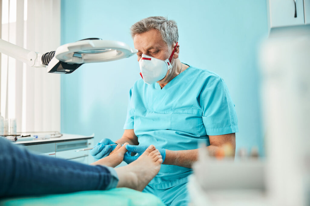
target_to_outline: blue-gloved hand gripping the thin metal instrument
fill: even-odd
[[[110,152],[115,149],[117,145],[112,145],[116,144],[112,140],[108,138],[102,139],[100,142],[97,143],[97,145],[94,147],[94,149],[91,149],[90,154],[95,158],[95,159],[101,159],[110,154]],[[105,146],[109,145],[109,146]]]

